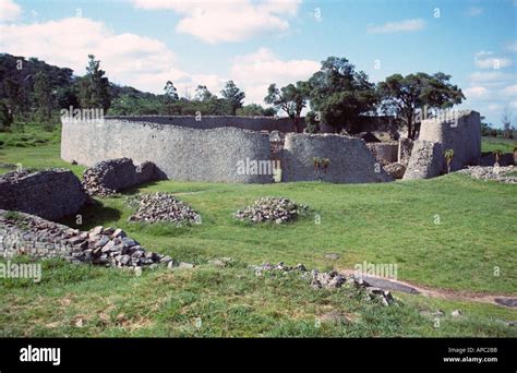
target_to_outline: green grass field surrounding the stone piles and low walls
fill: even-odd
[[[0,164],[19,163],[72,168],[77,176],[83,170],[59,159],[58,143],[0,149]],[[129,222],[127,196],[155,191],[188,202],[202,225]],[[286,226],[232,219],[236,209],[265,195],[308,204],[312,214]],[[381,184],[159,181],[98,201],[80,212],[81,226],[74,218],[62,222],[119,227],[145,248],[196,267],[136,277],[45,261],[39,284],[0,279],[0,336],[517,336],[504,323],[517,320],[515,309],[402,293],[386,308],[359,291],[314,290],[296,274],[257,277],[248,267],[282,261],[328,270],[393,263],[398,279],[416,285],[515,297],[515,185],[460,175]],[[235,258],[227,267],[208,263],[226,256]],[[432,315],[437,309],[445,311],[438,324]],[[455,309],[462,315],[452,317]]]

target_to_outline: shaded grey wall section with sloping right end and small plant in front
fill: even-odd
[[[281,155],[282,181],[315,180],[313,158],[328,158],[323,180],[329,182],[392,181],[361,139],[337,134],[286,135]]]

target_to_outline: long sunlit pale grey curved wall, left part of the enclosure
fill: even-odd
[[[106,119],[103,123],[64,121],[61,158],[93,166],[128,157],[152,161],[172,180],[242,183],[272,182],[272,175],[238,172],[239,163],[268,161],[269,135],[231,127],[199,130],[171,124]]]

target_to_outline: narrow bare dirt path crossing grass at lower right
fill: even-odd
[[[341,272],[341,270],[340,270]],[[353,269],[344,269],[344,274],[350,276],[354,274]],[[380,277],[364,277],[366,282],[386,290],[402,291],[406,293],[422,294],[424,297],[441,298],[446,300],[470,301],[479,303],[489,303],[509,309],[517,308],[517,296],[506,294],[486,294],[462,290],[434,289],[426,286],[414,285],[407,281],[385,279]]]

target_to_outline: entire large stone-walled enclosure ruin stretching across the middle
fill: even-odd
[[[402,137],[398,143],[366,144],[354,136],[298,130],[289,118],[266,117],[63,120],[61,157],[86,166],[113,158],[151,161],[160,178],[183,181],[364,183],[442,175],[446,149],[455,152],[453,171],[476,165],[481,156],[476,111],[461,111],[453,120],[423,120],[414,143]],[[320,176],[314,170],[315,158],[329,160]]]

